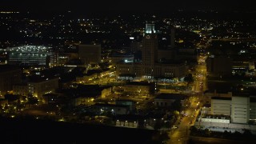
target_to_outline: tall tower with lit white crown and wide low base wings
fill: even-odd
[[[155,33],[153,24],[146,24],[146,33],[142,38],[142,62],[119,62],[117,72],[122,74],[134,74],[138,77],[155,78],[182,78],[187,73],[185,62],[170,61],[172,53],[161,54],[168,61],[158,60],[158,34]]]

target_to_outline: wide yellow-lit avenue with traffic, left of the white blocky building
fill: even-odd
[[[182,116],[181,119],[174,124],[170,130],[169,136],[170,139],[166,141],[168,144],[182,144],[186,143],[190,138],[190,126],[194,126],[195,118],[198,116],[199,106],[202,106],[200,103],[202,92],[206,90],[206,56],[199,56],[198,63],[194,74],[194,92],[197,93],[197,97],[190,98],[191,105],[186,108],[184,112],[187,116]],[[200,98],[200,99],[199,99]],[[198,106],[199,105],[199,106]],[[177,127],[177,128],[176,128]]]

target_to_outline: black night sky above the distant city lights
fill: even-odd
[[[253,0],[1,0],[0,10],[256,10]]]

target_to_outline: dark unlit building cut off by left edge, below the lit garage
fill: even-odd
[[[14,84],[22,82],[22,70],[15,66],[0,65],[0,95],[13,90]]]

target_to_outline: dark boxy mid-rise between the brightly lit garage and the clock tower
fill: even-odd
[[[101,45],[79,45],[78,57],[85,64],[101,62]]]

